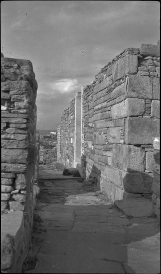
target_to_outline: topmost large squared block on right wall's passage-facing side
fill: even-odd
[[[127,74],[135,74],[138,71],[138,56],[126,55],[112,65],[112,78],[116,81]]]

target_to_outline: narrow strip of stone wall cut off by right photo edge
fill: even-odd
[[[157,216],[160,224],[161,208],[160,208],[160,137],[155,138],[154,142],[154,159],[151,158],[153,164],[153,212]]]

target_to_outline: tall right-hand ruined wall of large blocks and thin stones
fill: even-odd
[[[159,76],[159,47],[142,44],[125,49],[84,89],[84,177],[94,177],[112,201],[152,194]]]

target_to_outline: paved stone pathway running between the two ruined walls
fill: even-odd
[[[125,215],[93,185],[61,178],[62,167],[56,165],[40,165],[34,260],[26,259],[25,273],[160,273],[156,219]]]

